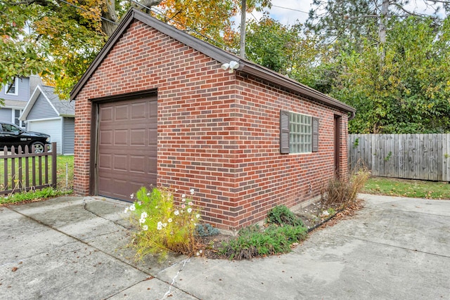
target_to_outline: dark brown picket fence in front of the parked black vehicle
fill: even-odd
[[[40,189],[56,187],[56,143],[51,143],[51,151],[25,152],[19,147],[15,154],[14,147],[8,154],[6,147],[4,155],[0,155],[0,195],[22,192],[32,188]]]

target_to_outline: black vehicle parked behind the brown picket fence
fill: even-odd
[[[44,152],[44,145],[49,143],[48,134],[25,131],[15,124],[0,122],[0,151],[3,151],[5,146],[11,151],[11,146],[14,146],[15,152],[18,152],[18,147],[22,146],[22,152],[25,152],[25,145],[28,145],[31,152],[34,145],[34,151],[41,153]]]

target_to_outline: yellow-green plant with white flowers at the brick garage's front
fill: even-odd
[[[194,190],[190,193],[193,195]],[[131,223],[139,228],[132,242],[138,259],[155,254],[163,260],[169,251],[200,254],[195,242],[200,212],[186,195],[182,195],[180,204],[176,205],[174,194],[168,188],[153,188],[151,192],[141,188],[136,193],[136,201],[124,213],[129,214]]]

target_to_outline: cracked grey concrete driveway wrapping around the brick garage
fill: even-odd
[[[0,207],[0,299],[450,299],[450,201],[360,195],[290,254],[135,263],[125,203]]]

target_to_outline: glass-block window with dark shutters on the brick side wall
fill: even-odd
[[[319,151],[319,119],[295,112],[280,113],[280,152]]]

